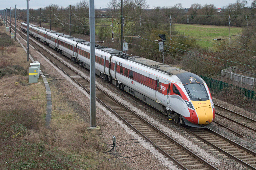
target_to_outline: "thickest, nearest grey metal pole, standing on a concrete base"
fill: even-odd
[[[95,18],[94,0],[90,0],[90,78],[91,78],[91,127],[96,128],[96,92],[95,92]]]

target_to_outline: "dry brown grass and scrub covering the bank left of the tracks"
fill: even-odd
[[[129,169],[103,153],[103,140],[87,132],[89,124],[51,82],[51,128],[45,127],[45,87],[28,83],[28,67],[26,53],[17,43],[0,46],[1,169]]]

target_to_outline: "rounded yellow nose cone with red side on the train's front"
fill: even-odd
[[[195,124],[212,123],[213,114],[211,107],[198,107],[192,114],[192,120]]]

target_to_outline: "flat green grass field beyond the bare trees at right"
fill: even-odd
[[[214,25],[189,25],[187,24],[174,24],[175,30],[184,32],[185,35],[189,35],[190,38],[200,39],[197,41],[201,47],[212,47],[212,43],[218,43],[213,39],[222,38],[229,39],[229,27],[228,26],[214,26]],[[231,35],[242,35],[241,27],[230,27]],[[232,38],[232,36],[231,36]],[[233,38],[236,38],[233,36]],[[205,42],[209,41],[209,42]]]

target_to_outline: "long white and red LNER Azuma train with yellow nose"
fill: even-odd
[[[21,23],[27,31],[27,23]],[[90,42],[29,25],[30,35],[90,69]],[[207,127],[215,119],[209,88],[199,76],[156,61],[95,45],[96,74],[180,124]]]

